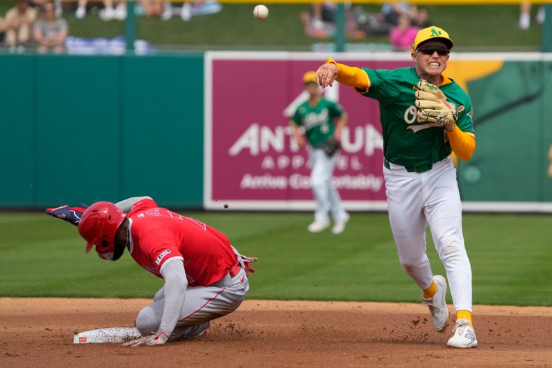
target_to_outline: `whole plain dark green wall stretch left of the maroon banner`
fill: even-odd
[[[203,55],[0,55],[0,206],[202,205]]]

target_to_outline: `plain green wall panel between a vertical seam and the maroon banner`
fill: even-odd
[[[127,57],[123,196],[203,205],[203,57]]]

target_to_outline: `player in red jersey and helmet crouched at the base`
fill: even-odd
[[[206,333],[210,320],[239,307],[249,290],[250,262],[223,233],[161,208],[150,197],[112,204],[47,209],[49,215],[78,224],[86,253],[118,260],[124,250],[144,269],[165,280],[152,304],[138,313],[143,337],[128,346],[160,345]]]

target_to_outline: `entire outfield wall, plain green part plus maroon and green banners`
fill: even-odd
[[[287,123],[302,73],[328,56],[411,64],[393,53],[0,55],[0,206],[148,194],[181,208],[313,209]],[[552,212],[552,57],[453,54],[447,72],[474,106],[477,149],[458,165],[464,209]],[[325,93],[350,115],[335,171],[346,207],[384,210],[377,104],[345,86]]]

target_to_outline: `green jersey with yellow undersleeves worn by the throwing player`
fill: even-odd
[[[384,155],[389,162],[402,166],[422,166],[433,164],[451,154],[444,126],[417,118],[414,87],[420,77],[415,68],[363,70],[370,79],[370,88],[362,95],[380,102]],[[445,77],[444,81],[440,88],[446,95],[446,101],[456,106],[456,125],[464,132],[473,133],[472,106],[468,95],[452,79]]]

